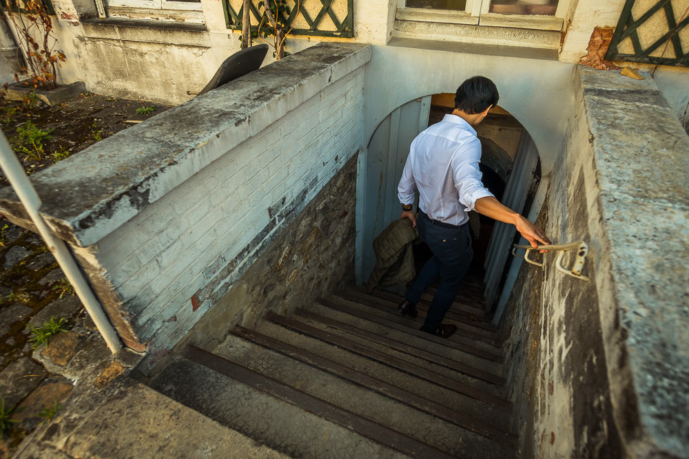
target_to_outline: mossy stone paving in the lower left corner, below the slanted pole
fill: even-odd
[[[0,457],[9,457],[72,392],[72,382],[46,370],[34,352],[65,365],[74,355],[79,332],[56,334],[47,346],[34,350],[31,329],[54,317],[79,330],[85,313],[39,235],[3,217],[0,230],[0,397],[5,413],[16,421],[3,431]]]

